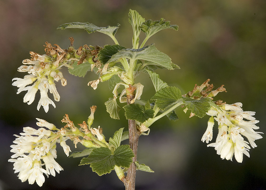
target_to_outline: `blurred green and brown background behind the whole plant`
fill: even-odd
[[[84,78],[69,75],[63,70],[68,84],[57,83],[61,96],[56,109],[50,105],[48,113],[36,110],[36,100],[23,103],[25,92],[16,94],[11,85],[22,60],[30,58],[29,51],[44,54],[45,41],[69,45],[68,37],[74,37],[74,46],[113,44],[101,33],[87,34],[83,29],[56,30],[68,22],[90,22],[98,26],[121,26],[116,34],[120,45],[132,47],[132,27],[128,23],[128,10],[137,10],[146,20],[161,17],[179,25],[176,32],[163,30],[151,37],[147,44],[155,43],[160,51],[168,54],[181,69],[157,70],[161,79],[186,92],[195,83],[210,78],[215,89],[225,85],[227,93],[219,93],[216,100],[227,103],[242,102],[243,110],[256,111],[260,120],[258,131],[265,130],[265,79],[266,79],[266,2],[257,1],[192,1],[192,0],[98,0],[98,1],[0,1],[1,41],[1,90],[0,90],[0,189],[124,189],[115,172],[98,176],[89,166],[77,166],[79,158],[66,158],[61,147],[57,148],[56,161],[64,168],[56,177],[45,179],[43,187],[28,185],[14,174],[13,163],[7,162],[13,153],[10,145],[13,134],[22,132],[26,126],[36,127],[35,118],[42,118],[63,127],[60,122],[65,113],[74,123],[81,123],[90,114],[89,106],[97,105],[94,127],[100,125],[107,138],[121,128],[127,127],[123,110],[121,120],[113,120],[105,110],[104,102],[112,96],[108,84],[100,83],[97,90],[87,86],[97,79],[94,73]],[[144,35],[140,36],[140,40]],[[142,98],[149,99],[155,90],[148,75],[136,80],[145,86]],[[51,94],[50,94],[51,95]],[[49,96],[50,96],[49,95]],[[52,98],[52,96],[50,96]],[[201,142],[208,117],[189,117],[181,108],[179,121],[167,118],[151,126],[149,136],[141,136],[138,161],[150,166],[155,173],[137,171],[136,189],[266,189],[265,137],[257,140],[257,148],[250,150],[250,158],[243,163],[222,160],[213,147]],[[217,135],[214,127],[214,139]],[[263,135],[264,136],[264,135]],[[127,143],[127,142],[125,142]],[[70,142],[69,142],[70,144]],[[81,150],[78,146],[77,150]],[[71,146],[72,152],[75,151]]]

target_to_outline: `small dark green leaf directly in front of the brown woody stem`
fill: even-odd
[[[140,104],[129,104],[123,107],[125,109],[125,116],[127,119],[137,120],[140,123],[145,122],[149,118],[153,118],[154,110],[144,110]]]

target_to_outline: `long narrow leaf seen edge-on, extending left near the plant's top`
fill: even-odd
[[[80,22],[73,22],[73,23],[65,23],[61,24],[57,29],[66,29],[66,28],[82,28],[85,29],[89,34],[92,32],[101,32],[104,34],[107,34],[108,36],[114,36],[117,32],[120,24],[117,24],[116,26],[107,26],[107,27],[98,27],[91,23],[80,23]]]

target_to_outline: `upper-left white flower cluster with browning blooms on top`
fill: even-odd
[[[56,59],[51,58],[48,55],[40,55],[33,51],[31,51],[30,54],[32,58],[23,60],[22,63],[24,65],[18,68],[19,72],[28,72],[29,75],[24,76],[23,79],[12,79],[12,81],[15,80],[12,85],[19,88],[17,94],[22,91],[27,91],[23,98],[23,102],[28,102],[28,105],[34,101],[35,94],[39,89],[41,98],[39,100],[37,110],[43,106],[45,112],[47,113],[49,110],[49,104],[52,104],[53,107],[55,107],[55,103],[48,97],[48,90],[53,94],[55,101],[60,100],[54,81],[61,80],[61,84],[63,86],[66,85],[66,79],[63,77],[62,72],[59,71],[60,67],[64,65],[60,62],[63,62],[65,53],[57,53],[57,55],[54,56]],[[32,83],[33,85],[27,86]]]

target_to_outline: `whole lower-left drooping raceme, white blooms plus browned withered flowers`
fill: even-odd
[[[14,144],[10,146],[12,148],[10,152],[14,154],[8,161],[14,162],[13,169],[15,173],[19,172],[18,178],[22,182],[28,180],[29,184],[33,184],[36,181],[39,186],[42,186],[45,181],[43,174],[55,176],[56,172],[59,173],[63,170],[55,161],[57,157],[56,143],[62,146],[66,156],[69,156],[69,152],[71,152],[70,147],[65,142],[68,139],[73,141],[75,148],[78,142],[87,148],[98,148],[101,147],[99,143],[107,143],[102,135],[100,126],[98,128],[90,128],[95,110],[96,106],[92,106],[92,113],[88,119],[90,120],[89,126],[83,121],[82,124],[79,124],[81,128],[77,128],[68,115],[65,114],[64,119],[61,121],[66,123],[66,125],[61,129],[43,119],[36,118],[38,120],[36,124],[40,127],[39,129],[24,127],[23,133],[20,133],[21,136],[14,135],[17,138],[13,141]],[[97,138],[95,135],[97,135]],[[83,139],[79,139],[80,137]]]

